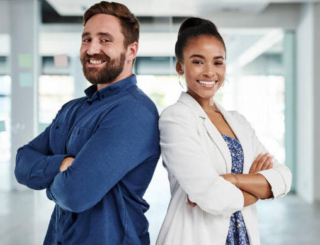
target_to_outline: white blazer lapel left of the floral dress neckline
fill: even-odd
[[[192,111],[195,112],[200,118],[203,119],[203,125],[208,132],[209,137],[215,143],[217,148],[220,150],[226,164],[226,173],[231,172],[231,155],[229,148],[222,138],[221,134],[214,126],[214,124],[210,121],[207,114],[204,112],[199,103],[188,93],[182,92],[181,96],[178,100],[179,102],[186,104],[187,106],[192,108]]]

